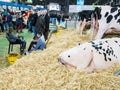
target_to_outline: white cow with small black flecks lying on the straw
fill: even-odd
[[[120,63],[120,38],[97,39],[62,52],[58,61],[67,68],[88,73]]]

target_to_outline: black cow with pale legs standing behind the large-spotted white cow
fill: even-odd
[[[82,35],[82,32],[85,27],[90,27],[92,12],[93,12],[93,10],[83,10],[78,13],[78,16],[80,19],[80,21],[78,23],[78,28],[79,28],[78,31],[80,31],[80,35]]]

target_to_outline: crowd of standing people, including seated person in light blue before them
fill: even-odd
[[[60,13],[48,13],[47,9],[30,9],[19,12],[4,9],[3,12],[0,12],[0,28],[1,32],[6,32],[12,27],[16,30],[16,33],[23,33],[23,28],[27,28],[28,31],[34,33],[33,41],[31,41],[27,52],[43,50],[46,48],[45,42],[48,39],[49,23],[56,24],[51,20],[52,18],[56,18],[58,24],[60,24],[61,20],[64,21],[66,17]],[[23,50],[25,50],[25,47],[26,44]]]

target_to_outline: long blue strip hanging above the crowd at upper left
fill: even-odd
[[[31,6],[27,6],[27,5],[24,5],[24,4],[16,4],[16,3],[3,2],[3,1],[0,1],[0,5],[13,6],[13,7],[23,7],[23,8],[32,8]]]

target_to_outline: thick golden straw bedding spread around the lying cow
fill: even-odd
[[[119,90],[120,77],[113,73],[120,65],[86,74],[58,63],[60,52],[86,41],[88,36],[80,37],[74,30],[53,34],[47,49],[32,52],[0,72],[0,90]]]

